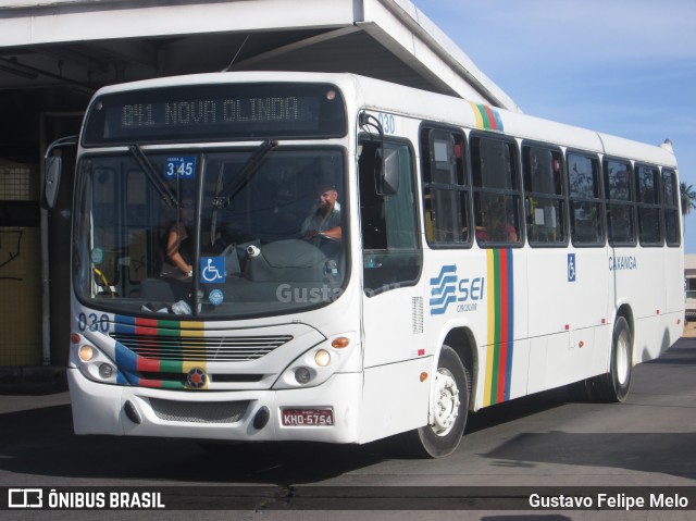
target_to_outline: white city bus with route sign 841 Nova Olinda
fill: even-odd
[[[622,401],[682,334],[678,187],[669,147],[352,74],[105,87],[78,139],[75,432],[438,457],[484,407]]]

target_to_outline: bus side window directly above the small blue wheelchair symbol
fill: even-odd
[[[595,156],[569,152],[567,164],[573,245],[604,246],[599,160]]]

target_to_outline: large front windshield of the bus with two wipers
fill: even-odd
[[[335,300],[348,265],[340,149],[87,156],[78,165],[78,299],[114,313],[201,319]]]

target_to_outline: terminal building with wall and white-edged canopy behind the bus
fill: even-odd
[[[519,110],[409,0],[2,1],[0,367],[67,360],[74,158],[41,209],[48,145],[79,132],[104,85],[252,70],[351,72]]]

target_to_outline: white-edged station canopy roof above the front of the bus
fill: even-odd
[[[409,0],[0,0],[0,96],[223,70],[351,72],[519,110]]]

